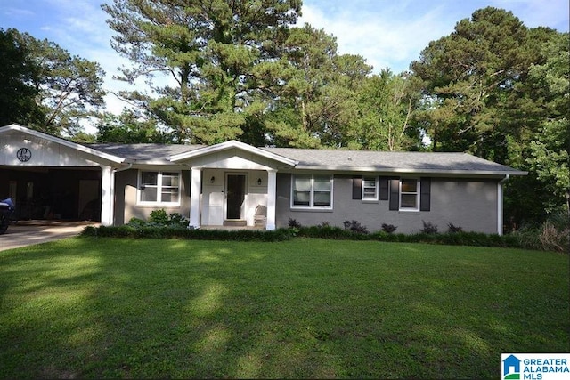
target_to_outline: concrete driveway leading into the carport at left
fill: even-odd
[[[6,233],[0,235],[0,251],[77,236],[90,225],[98,226],[99,223],[22,221],[11,224]]]

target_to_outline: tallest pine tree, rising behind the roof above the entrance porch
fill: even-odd
[[[102,5],[113,48],[134,63],[121,79],[145,77],[151,94],[123,93],[172,128],[173,141],[254,138],[276,41],[297,20],[300,0],[114,0]],[[263,69],[260,69],[262,67]],[[170,83],[153,83],[157,75]],[[162,82],[164,83],[164,81]],[[258,137],[258,136],[257,136]]]

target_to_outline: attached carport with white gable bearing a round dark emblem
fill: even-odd
[[[21,125],[0,127],[0,198],[18,220],[113,222],[114,174],[124,158]]]

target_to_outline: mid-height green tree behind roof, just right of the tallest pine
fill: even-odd
[[[267,122],[273,144],[300,148],[346,146],[355,89],[370,74],[361,56],[338,55],[337,41],[308,24],[292,28],[283,44],[283,85]]]

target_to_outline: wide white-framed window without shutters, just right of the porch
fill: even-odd
[[[332,208],[332,175],[294,175],[292,208]]]

